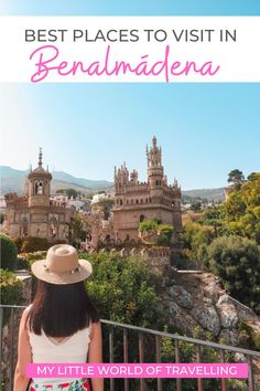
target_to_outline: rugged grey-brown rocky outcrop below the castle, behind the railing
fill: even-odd
[[[174,272],[160,299],[167,310],[169,324],[188,337],[196,337],[194,331],[199,328],[201,339],[209,331],[218,341],[239,346],[240,321],[260,331],[260,318],[227,295],[219,279],[209,273]]]

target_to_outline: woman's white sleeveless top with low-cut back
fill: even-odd
[[[28,329],[30,345],[32,348],[32,362],[87,362],[88,344],[90,342],[90,328],[91,324],[89,324],[89,327],[86,327],[83,330],[78,330],[71,337],[65,337],[61,342],[55,340],[55,338],[47,337],[43,330],[42,334],[37,336]],[[56,384],[61,382],[71,382],[74,380],[75,378],[34,379],[35,383],[37,384]]]

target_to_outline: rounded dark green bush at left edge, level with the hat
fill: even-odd
[[[18,250],[13,241],[0,233],[1,267],[14,271],[17,267]]]

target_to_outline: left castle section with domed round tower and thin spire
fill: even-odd
[[[68,240],[74,210],[51,199],[51,181],[52,175],[43,168],[40,149],[39,166],[26,177],[24,196],[6,196],[4,231],[11,237],[45,237],[50,242]]]

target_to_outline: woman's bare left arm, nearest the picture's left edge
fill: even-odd
[[[26,317],[28,310],[25,309],[22,314],[19,328],[18,363],[14,373],[13,391],[25,391],[30,380],[25,376],[26,364],[32,362],[32,351],[25,325]]]

